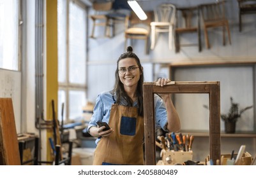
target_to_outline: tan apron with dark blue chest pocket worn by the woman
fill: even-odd
[[[112,105],[109,126],[114,132],[98,142],[93,165],[144,165],[144,121],[137,110],[137,107]]]

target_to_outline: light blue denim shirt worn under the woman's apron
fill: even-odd
[[[114,100],[116,100],[116,95],[113,94],[112,91],[102,92],[98,95],[96,99],[96,103],[93,109],[93,116],[91,116],[91,121],[89,121],[87,131],[89,132],[89,128],[93,126],[97,126],[97,121],[104,121],[109,123],[110,111],[112,104],[114,104]],[[121,100],[121,105],[127,106],[125,100]],[[133,102],[133,107],[138,107],[137,102]],[[166,128],[167,125],[167,112],[165,109],[165,104],[163,100],[156,94],[154,94],[154,111],[156,117],[156,127],[161,127],[163,130],[168,131]],[[100,138],[96,139],[96,144]]]

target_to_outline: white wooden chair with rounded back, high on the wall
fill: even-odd
[[[154,22],[151,22],[151,50],[154,49],[156,37],[160,32],[169,33],[169,49],[172,50],[172,31],[174,28],[176,6],[174,4],[160,4],[154,10]]]

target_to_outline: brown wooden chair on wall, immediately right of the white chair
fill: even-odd
[[[182,44],[179,40],[180,34],[197,32],[197,43]],[[195,46],[202,50],[200,40],[200,18],[197,7],[176,8],[176,27],[174,32],[174,41],[176,53],[179,52],[181,46]]]

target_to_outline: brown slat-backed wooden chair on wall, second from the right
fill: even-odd
[[[206,47],[209,49],[209,37],[207,30],[209,28],[223,27],[223,45],[225,45],[225,28],[229,36],[229,43],[231,44],[229,21],[225,17],[225,1],[218,1],[210,4],[200,4],[200,15],[202,17],[202,24],[204,29],[204,38]]]

